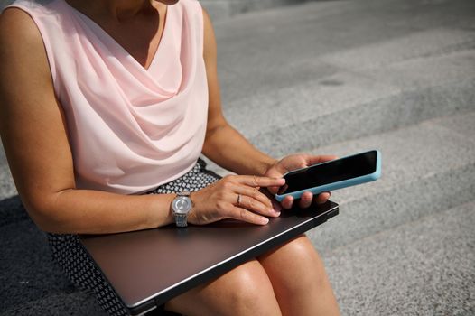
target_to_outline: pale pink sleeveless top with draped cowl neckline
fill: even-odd
[[[42,34],[67,117],[79,189],[139,193],[191,170],[206,132],[203,16],[196,0],[169,5],[146,70],[64,0],[19,0]]]

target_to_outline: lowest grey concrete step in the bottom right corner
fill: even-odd
[[[474,226],[471,201],[322,251],[341,314],[474,315]]]

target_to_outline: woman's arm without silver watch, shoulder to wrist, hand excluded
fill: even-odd
[[[204,60],[208,77],[209,110],[203,153],[220,166],[238,174],[263,175],[276,160],[250,144],[228,124],[222,114],[216,62],[216,40],[210,17],[204,17]]]

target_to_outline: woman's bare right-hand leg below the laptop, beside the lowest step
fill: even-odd
[[[339,315],[325,268],[304,235],[258,257],[283,315]]]

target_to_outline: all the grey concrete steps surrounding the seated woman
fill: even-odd
[[[475,2],[310,2],[215,29],[225,113],[259,148],[383,153],[308,234],[342,313],[475,314]],[[0,316],[103,315],[51,263],[2,150],[0,247]]]

